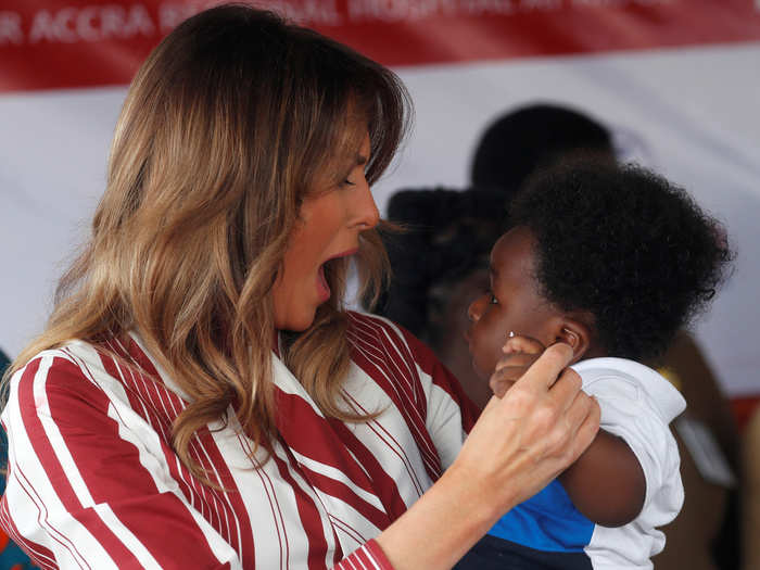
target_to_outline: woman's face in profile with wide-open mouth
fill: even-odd
[[[379,212],[364,172],[369,152],[365,135],[343,172],[327,173],[304,199],[273,288],[278,330],[301,331],[312,325],[317,307],[330,299],[325,263],[356,253],[359,233],[377,225]]]

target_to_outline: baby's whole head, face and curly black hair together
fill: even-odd
[[[491,289],[469,307],[487,378],[507,334],[593,356],[650,360],[706,308],[732,258],[721,225],[635,166],[583,162],[534,176],[491,252]]]

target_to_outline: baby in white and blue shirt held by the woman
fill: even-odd
[[[653,568],[664,546],[657,527],[683,504],[669,423],[685,402],[639,362],[712,299],[731,259],[725,235],[663,178],[588,162],[539,174],[510,219],[491,252],[490,290],[468,309],[473,368],[501,396],[544,346],[565,342],[601,429],[456,568]]]

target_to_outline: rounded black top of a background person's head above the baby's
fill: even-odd
[[[511,195],[536,169],[579,154],[615,161],[612,135],[567,105],[528,104],[486,127],[476,147],[470,181],[476,188],[499,188]]]

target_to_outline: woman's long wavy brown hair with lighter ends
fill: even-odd
[[[46,331],[11,371],[72,339],[137,331],[190,396],[174,426],[189,458],[193,433],[230,404],[268,447],[274,430],[270,289],[316,175],[368,127],[370,183],[408,123],[408,96],[381,65],[319,34],[245,5],[178,26],[135,77],[111,151],[106,191],[81,255],[64,275]],[[384,251],[360,238],[359,265],[377,286]],[[282,355],[322,410],[341,410],[349,366],[335,293]]]

